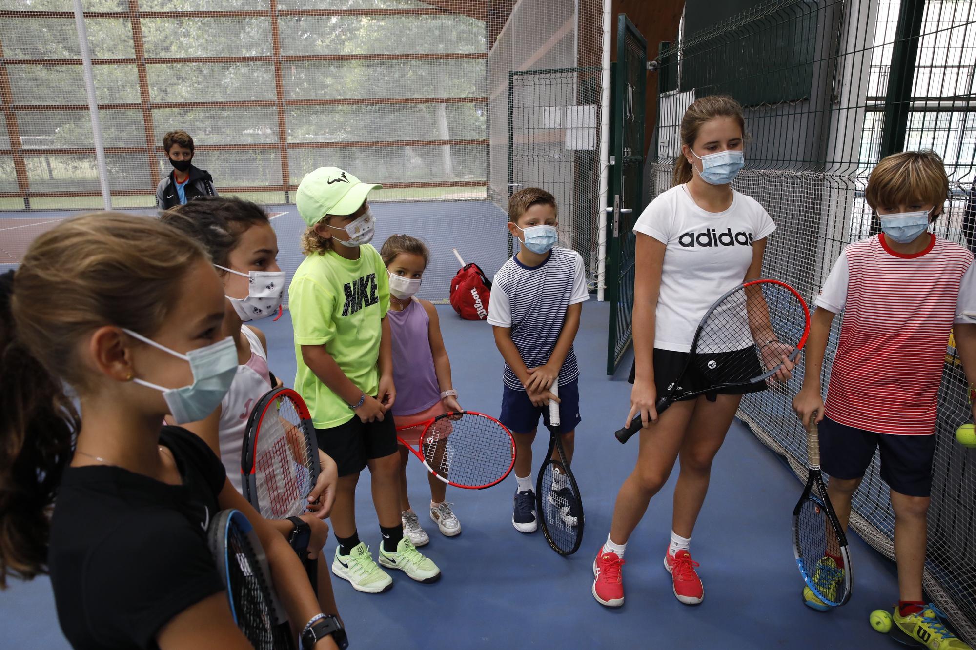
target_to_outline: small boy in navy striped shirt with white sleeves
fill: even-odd
[[[580,424],[580,389],[573,339],[580,328],[583,302],[590,298],[583,258],[556,242],[555,197],[545,189],[526,187],[508,200],[508,231],[518,239],[518,253],[495,274],[488,322],[495,345],[505,357],[502,424],[515,438],[515,480],[511,524],[520,533],[537,527],[532,484],[532,441],[543,424],[562,435],[567,460],[573,457],[573,436]],[[558,382],[556,399],[549,388]],[[557,427],[549,425],[549,400],[559,403]],[[553,450],[553,457],[557,458]],[[562,518],[575,525],[580,513],[575,500]]]

